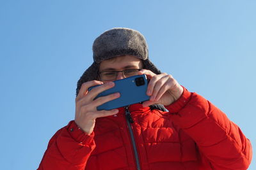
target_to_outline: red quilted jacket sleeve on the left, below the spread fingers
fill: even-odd
[[[85,134],[71,121],[52,136],[38,170],[84,170],[95,148],[93,136],[93,133]]]

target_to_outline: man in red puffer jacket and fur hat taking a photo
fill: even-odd
[[[248,168],[252,147],[239,127],[202,96],[161,73],[148,59],[140,32],[104,32],[93,43],[93,60],[77,83],[75,120],[54,134],[38,169]],[[120,97],[94,99],[100,92],[114,87],[114,80],[137,74],[150,80],[149,101],[97,111]],[[94,85],[100,86],[88,92]]]

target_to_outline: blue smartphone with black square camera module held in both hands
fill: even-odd
[[[113,82],[115,83],[115,87],[101,92],[97,97],[95,97],[95,99],[102,96],[108,96],[109,94],[113,94],[115,92],[119,92],[120,97],[98,106],[97,110],[113,110],[115,108],[149,100],[149,96],[146,94],[148,81],[145,74],[131,76]],[[90,87],[88,90],[90,91],[98,86],[99,85]]]

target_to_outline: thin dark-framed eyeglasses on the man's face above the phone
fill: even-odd
[[[138,75],[140,70],[141,69],[125,69],[123,71],[102,71],[102,72],[99,72],[99,76],[100,76],[100,80],[111,81],[111,80],[116,80],[118,72],[122,72],[123,76],[127,78],[129,76]]]

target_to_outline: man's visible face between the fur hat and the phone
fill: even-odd
[[[132,69],[143,69],[142,61],[132,55],[124,55],[124,56],[115,57],[115,58],[100,62],[99,73],[102,73],[105,71],[124,71],[124,70],[132,71]],[[109,73],[107,73],[106,75],[108,74]],[[122,72],[118,72],[116,74],[115,80],[120,80],[125,77],[127,76],[124,76]],[[108,81],[114,81],[114,80],[101,80],[101,81],[106,83]]]

